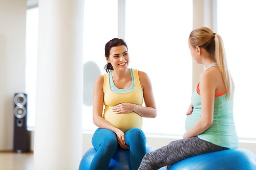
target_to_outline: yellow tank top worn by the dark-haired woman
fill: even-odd
[[[110,88],[109,73],[104,74],[104,114],[103,118],[114,127],[126,132],[132,128],[142,128],[142,117],[135,112],[131,113],[114,113],[112,108],[120,103],[134,103],[142,106],[143,91],[141,89],[139,74],[137,69],[133,70],[135,87],[130,92],[116,93]]]

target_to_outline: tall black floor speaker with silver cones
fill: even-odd
[[[16,93],[14,95],[14,152],[29,151],[27,131],[27,94]]]

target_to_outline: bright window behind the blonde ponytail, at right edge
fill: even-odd
[[[234,85],[234,121],[239,137],[256,138],[256,1],[218,1],[217,33],[224,41]]]

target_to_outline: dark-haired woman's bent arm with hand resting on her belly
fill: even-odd
[[[141,83],[141,88],[143,90],[143,97],[145,106],[138,106],[132,103],[121,103],[113,107],[112,111],[115,113],[131,113],[135,112],[142,117],[156,117],[157,109],[156,103],[153,95],[152,85],[150,78],[145,72],[139,71],[139,79]]]

